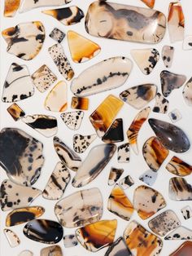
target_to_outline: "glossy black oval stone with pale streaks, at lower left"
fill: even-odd
[[[33,241],[53,245],[63,238],[63,227],[48,219],[33,219],[24,226],[24,235]]]

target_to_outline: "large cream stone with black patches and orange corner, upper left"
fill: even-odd
[[[33,60],[41,51],[46,33],[41,21],[32,21],[3,30],[2,37],[7,42],[7,52],[23,60]]]

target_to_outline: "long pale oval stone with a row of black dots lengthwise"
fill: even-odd
[[[72,93],[89,96],[120,87],[127,81],[132,66],[132,61],[123,56],[98,62],[73,79]]]

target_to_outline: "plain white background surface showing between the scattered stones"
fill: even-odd
[[[72,26],[64,26],[63,24],[59,23],[58,20],[55,20],[53,17],[50,17],[48,15],[44,15],[41,13],[41,10],[44,9],[50,9],[50,7],[47,8],[38,8],[34,9],[33,11],[28,11],[24,14],[17,14],[14,18],[3,18],[3,2],[1,1],[1,29],[7,29],[11,26],[15,26],[16,24],[19,24],[20,22],[28,22],[28,21],[34,21],[34,20],[41,20],[41,22],[46,27],[46,42],[44,43],[42,50],[39,55],[34,60],[30,61],[24,61],[16,58],[14,55],[10,55],[7,53],[6,48],[7,44],[4,42],[3,38],[1,38],[1,92],[3,83],[7,76],[8,68],[10,67],[10,64],[12,62],[17,62],[18,64],[27,64],[30,73],[32,74],[34,71],[37,70],[42,64],[47,64],[51,70],[57,75],[59,80],[63,80],[63,77],[59,74],[57,68],[55,67],[55,64],[50,58],[50,55],[47,52],[48,47],[55,44],[55,42],[49,38],[49,33],[52,29],[55,27],[63,30],[65,33],[67,33],[68,29],[72,29],[78,33],[81,33],[85,35],[87,38],[90,38],[94,40],[94,42],[98,42],[98,44],[102,47],[102,51],[99,55],[97,55],[93,60],[89,60],[85,64],[74,64],[71,60],[71,56],[68,50],[68,41],[67,38],[65,38],[62,42],[64,51],[66,55],[68,55],[68,59],[72,63],[72,68],[74,68],[76,75],[78,76],[85,68],[88,68],[92,64],[98,63],[98,61],[104,60],[111,56],[116,55],[124,55],[126,57],[131,58],[130,50],[131,49],[139,49],[139,48],[147,48],[147,47],[154,47],[150,45],[143,45],[143,44],[137,44],[137,43],[131,43],[131,42],[120,42],[115,40],[109,40],[109,39],[103,39],[103,38],[93,38],[89,36],[85,32],[85,26],[84,21],[81,20],[81,23],[75,24]],[[72,5],[77,5],[78,7],[81,7],[83,11],[87,11],[89,4],[92,2],[92,0],[73,0]],[[114,2],[118,3],[128,3],[126,0],[116,0]],[[183,9],[185,11],[185,35],[192,34],[192,15],[191,15],[191,1],[190,0],[183,0],[181,1],[183,4]],[[140,7],[145,7],[145,5],[139,1],[139,0],[129,0],[130,5],[136,5]],[[168,14],[168,0],[156,0],[155,3],[155,9],[159,11],[163,11],[165,15]],[[155,48],[161,52],[162,47],[164,45],[172,45],[175,47],[175,56],[174,61],[172,64],[172,68],[170,71],[173,73],[181,73],[185,74],[187,79],[190,79],[192,76],[192,66],[191,66],[191,60],[192,60],[192,51],[183,51],[182,50],[182,43],[177,42],[174,44],[170,44],[169,37],[168,37],[168,30],[165,34],[165,37],[162,42],[160,42],[158,45],[155,45]],[[85,118],[82,122],[81,129],[77,131],[77,133],[80,133],[82,135],[90,135],[94,134],[94,128],[91,126],[89,122],[89,114],[94,111],[94,109],[100,104],[103,99],[107,97],[108,94],[113,95],[119,95],[121,91],[132,87],[137,86],[142,83],[152,82],[155,83],[158,86],[159,92],[161,92],[160,89],[160,79],[159,79],[159,73],[164,69],[164,64],[162,60],[159,60],[159,63],[155,67],[155,70],[151,73],[149,76],[145,76],[142,74],[140,69],[137,67],[137,64],[133,65],[133,71],[129,77],[129,80],[124,84],[124,86],[121,86],[120,88],[117,88],[115,90],[103,92],[101,94],[90,96],[89,97],[89,111],[85,112]],[[59,81],[58,80],[58,81]],[[68,111],[70,111],[70,104],[71,104],[71,98],[72,93],[69,89],[70,82],[68,82]],[[51,87],[52,88],[52,87]],[[185,100],[182,97],[182,90],[183,87],[181,87],[179,90],[174,90],[172,94],[168,97],[168,100],[170,102],[168,112],[172,111],[173,109],[177,108],[181,112],[182,119],[181,121],[177,122],[177,126],[181,127],[183,130],[185,130],[185,133],[189,136],[190,141],[192,142],[192,121],[191,121],[191,114],[192,114],[192,108],[187,106],[185,104]],[[53,115],[58,118],[59,122],[59,131],[58,136],[60,139],[63,139],[64,143],[67,143],[72,148],[72,136],[75,134],[75,131],[69,130],[67,126],[64,125],[63,121],[59,117],[59,113],[50,113],[46,111],[44,108],[44,100],[46,98],[48,91],[44,94],[41,94],[38,90],[35,90],[35,94],[33,97],[25,99],[23,101],[20,101],[18,104],[21,108],[24,109],[25,113],[27,114],[47,114],[47,115]],[[151,107],[153,107],[155,104],[155,100],[153,100],[150,104]],[[38,134],[35,130],[31,129],[29,126],[25,125],[22,121],[15,122],[12,117],[7,113],[7,108],[10,104],[2,104],[1,102],[1,128],[3,127],[16,127],[20,128],[21,130],[26,131],[29,135],[33,135],[36,139],[39,139],[42,143],[44,143],[44,156],[46,157],[45,165],[43,166],[41,170],[41,177],[38,179],[37,183],[34,184],[35,188],[40,188],[43,190],[46,186],[46,182],[50,177],[51,172],[54,170],[54,167],[56,163],[59,161],[59,157],[55,153],[55,149],[53,147],[52,138],[46,139],[44,136]],[[122,117],[124,119],[124,141],[127,140],[126,138],[126,130],[128,130],[129,125],[133,121],[133,118],[137,114],[137,110],[129,106],[128,104],[124,104],[124,107],[121,109],[120,113],[117,117]],[[151,113],[150,117],[159,118],[164,121],[170,121],[168,115],[159,114],[159,113]],[[139,155],[136,156],[133,151],[131,151],[130,156],[130,162],[129,164],[118,164],[116,161],[116,155],[112,158],[110,163],[107,165],[107,167],[103,170],[101,174],[98,175],[96,179],[94,179],[93,182],[86,185],[84,188],[94,188],[98,187],[100,188],[102,194],[103,194],[103,219],[112,219],[116,218],[118,220],[118,228],[116,231],[116,239],[119,236],[123,235],[125,227],[128,225],[127,221],[124,221],[122,218],[118,218],[116,215],[111,214],[107,210],[107,198],[111,192],[112,187],[109,187],[107,185],[107,179],[108,174],[111,169],[111,166],[114,167],[122,167],[124,168],[124,174],[122,177],[126,176],[127,174],[130,174],[133,177],[133,180],[135,181],[135,184],[132,188],[127,189],[125,192],[129,199],[133,201],[133,191],[135,188],[137,188],[138,185],[143,184],[138,177],[146,170],[148,170],[148,166],[146,165],[146,162],[144,161],[142,157],[142,145],[148,139],[151,137],[151,135],[154,135],[153,131],[151,130],[151,127],[149,126],[148,122],[142,126],[142,130],[139,133],[138,137],[138,146],[139,146]],[[94,147],[95,145],[101,143],[100,139],[96,139],[94,143],[91,145],[91,147]],[[91,148],[90,147],[90,148]],[[90,149],[89,148],[89,149]],[[86,155],[89,152],[89,149],[81,155],[82,159],[85,159]],[[6,148],[5,148],[6,150]],[[173,152],[169,153],[169,156],[167,157],[166,161],[164,161],[164,164],[161,166],[161,168],[158,171],[158,179],[155,182],[153,188],[157,189],[159,192],[161,192],[164,195],[164,198],[167,202],[167,207],[164,208],[164,210],[172,209],[175,212],[177,212],[178,217],[181,220],[181,224],[185,227],[191,227],[192,228],[192,222],[191,219],[184,220],[184,218],[181,215],[181,208],[185,205],[190,205],[192,207],[192,204],[190,201],[171,201],[168,198],[168,180],[173,176],[172,174],[168,173],[168,170],[165,169],[166,164],[171,159],[173,155],[176,155],[177,157],[181,157],[184,161],[189,162],[192,164],[191,159],[191,149],[188,152],[185,152],[181,155],[175,154]],[[91,159],[90,159],[91,161]],[[72,177],[74,176],[74,173],[71,171]],[[4,170],[1,170],[1,179],[7,179],[7,174],[4,172]],[[192,177],[186,177],[187,181],[189,183],[192,183]],[[66,189],[66,192],[64,196],[70,195],[72,192],[76,192],[77,188],[72,188],[71,183],[68,185],[68,188]],[[42,218],[48,218],[57,220],[54,213],[54,206],[56,201],[47,201],[42,198],[42,196],[39,196],[35,201],[33,201],[32,205],[42,205],[46,208],[46,213],[42,216]],[[162,212],[164,210],[159,211]],[[5,227],[5,219],[8,212],[1,213],[1,231]],[[159,214],[158,213],[158,214]],[[153,216],[154,217],[154,216]],[[139,223],[141,223],[144,227],[146,227],[148,230],[148,221],[143,221],[141,218],[138,217],[137,212],[134,211],[134,214],[131,219],[136,219]],[[19,225],[16,227],[12,227],[12,230],[20,236],[21,244],[11,249],[11,247],[8,245],[7,240],[4,236],[4,234],[1,232],[1,256],[16,256],[18,255],[23,249],[30,249],[33,251],[33,254],[35,256],[40,255],[40,250],[46,245],[31,241],[26,236],[23,235],[23,225]],[[64,228],[64,233],[72,234],[75,232],[75,229],[67,229]],[[181,245],[182,241],[163,241],[164,242],[164,248],[162,250],[162,253],[160,255],[162,256],[168,256],[168,254],[172,253],[179,245]],[[81,245],[78,245],[73,248],[65,249],[63,246],[63,241],[59,242],[59,245],[61,245],[63,249],[63,254],[65,256],[89,256],[89,255],[95,255],[95,256],[103,256],[105,254],[105,251],[107,249],[102,249],[98,251],[98,253],[91,253],[87,250],[85,250]]]

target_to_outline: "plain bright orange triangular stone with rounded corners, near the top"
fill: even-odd
[[[72,60],[76,63],[91,60],[101,51],[101,47],[98,46],[96,42],[93,42],[72,30],[68,31],[68,46],[72,55]]]

